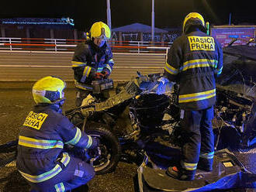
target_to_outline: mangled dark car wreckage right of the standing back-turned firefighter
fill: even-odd
[[[213,128],[216,149],[256,144],[256,47],[223,48],[223,73],[216,80]]]

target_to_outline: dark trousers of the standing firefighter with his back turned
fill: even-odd
[[[181,110],[181,126],[184,135],[181,166],[188,175],[195,174],[196,167],[212,170],[214,156],[213,107],[199,111]]]

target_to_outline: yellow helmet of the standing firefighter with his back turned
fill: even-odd
[[[186,33],[186,31],[189,29],[189,26],[199,26],[202,29],[202,31],[206,31],[205,20],[203,19],[202,15],[200,15],[198,12],[190,12],[188,15],[185,16],[183,22],[184,33]]]

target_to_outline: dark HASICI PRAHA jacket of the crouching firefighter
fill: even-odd
[[[64,144],[88,149],[92,138],[75,127],[56,105],[36,105],[19,132],[16,166],[26,180],[40,183],[56,176],[71,157]]]

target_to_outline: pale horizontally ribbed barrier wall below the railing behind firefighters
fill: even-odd
[[[73,81],[71,60],[73,53],[0,51],[0,81],[35,81],[54,75]],[[161,73],[165,55],[150,53],[114,53],[115,66],[111,74],[114,81],[127,81],[141,74]]]

